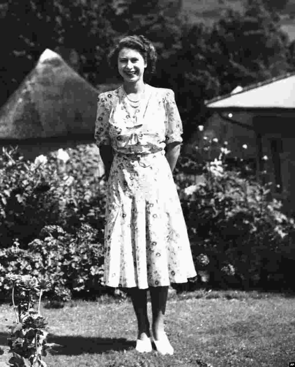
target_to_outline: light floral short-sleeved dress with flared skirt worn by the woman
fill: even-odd
[[[165,145],[182,142],[172,90],[146,84],[133,110],[121,87],[98,96],[95,139],[112,145],[105,213],[104,281],[110,287],[168,286],[196,276]]]

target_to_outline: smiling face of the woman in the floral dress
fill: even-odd
[[[118,70],[124,81],[136,83],[143,80],[144,69],[147,64],[140,52],[132,48],[122,48],[118,55]]]

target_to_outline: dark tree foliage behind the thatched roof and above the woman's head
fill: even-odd
[[[45,48],[77,52],[79,72],[94,85],[112,77],[107,54],[119,36],[145,34],[154,41],[159,58],[167,58],[180,39],[177,11],[159,0],[4,1],[0,30],[9,34],[10,41],[2,45],[0,104],[32,70]]]

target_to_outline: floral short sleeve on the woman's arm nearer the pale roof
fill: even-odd
[[[183,141],[181,137],[181,134],[183,134],[183,127],[179,111],[176,106],[174,92],[171,89],[167,90],[165,95],[165,109],[167,116],[165,142],[166,144],[172,142],[181,143]]]

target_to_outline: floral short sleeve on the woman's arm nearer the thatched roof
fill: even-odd
[[[111,138],[109,137],[109,114],[111,106],[108,95],[101,93],[97,97],[97,113],[95,121],[94,139],[98,148],[100,145],[110,145]]]

